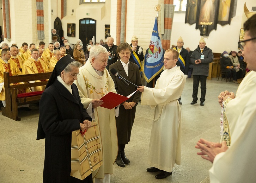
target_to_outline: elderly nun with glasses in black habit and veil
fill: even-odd
[[[45,138],[44,183],[92,183],[92,175],[83,181],[70,176],[72,131],[81,129],[84,133],[92,120],[73,84],[80,67],[70,55],[62,57],[39,102],[37,140]]]

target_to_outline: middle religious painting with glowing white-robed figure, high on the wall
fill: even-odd
[[[217,29],[218,8],[219,0],[198,0],[196,29],[200,29],[201,36]]]

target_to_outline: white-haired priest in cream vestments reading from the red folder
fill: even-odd
[[[90,52],[90,62],[86,62],[79,69],[80,75],[74,83],[77,85],[81,102],[87,108],[88,114],[98,121],[102,145],[103,165],[96,175],[95,183],[109,182],[109,174],[113,174],[113,164],[117,157],[118,143],[116,132],[115,108],[100,107],[103,103],[99,100],[109,92],[116,93],[115,84],[107,69],[108,52],[103,46],[93,46]],[[93,113],[92,113],[93,108]]]

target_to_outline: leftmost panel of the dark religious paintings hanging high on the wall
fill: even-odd
[[[186,10],[186,18],[185,23],[189,23],[190,25],[196,23],[196,10],[197,10],[197,1],[198,0],[188,0],[187,1],[187,10]]]

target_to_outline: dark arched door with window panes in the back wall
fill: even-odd
[[[96,40],[96,20],[84,18],[79,20],[79,39],[82,40],[84,46],[89,43],[92,37]]]

